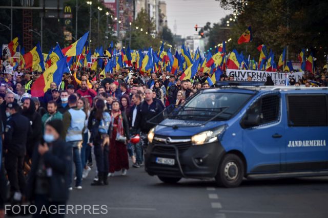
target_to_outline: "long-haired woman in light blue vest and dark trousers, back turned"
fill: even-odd
[[[107,173],[109,171],[109,127],[111,116],[106,111],[105,101],[97,99],[95,110],[92,111],[88,121],[90,130],[90,143],[94,146],[96,158],[98,180],[94,180],[91,185],[108,185]]]

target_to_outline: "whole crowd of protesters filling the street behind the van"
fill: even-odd
[[[7,179],[10,204],[30,201],[40,208],[50,201],[65,204],[69,190],[82,189],[93,158],[97,176],[91,185],[108,185],[118,171],[127,175],[129,156],[133,167],[143,165],[145,142],[131,139],[146,138],[153,127],[147,121],[210,88],[210,75],[201,72],[181,81],[181,71],[147,75],[120,69],[104,76],[81,68],[65,73],[60,84],[52,82],[43,97],[35,98],[31,88],[41,74],[17,67],[13,74],[0,75],[0,209],[7,199]],[[220,80],[234,77],[223,74]],[[290,85],[312,86],[308,80],[327,86],[327,70],[305,72]],[[273,85],[272,79],[266,85]]]

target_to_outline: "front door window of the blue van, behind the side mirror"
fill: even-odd
[[[250,128],[279,121],[279,105],[279,95],[263,96],[249,108],[241,122],[242,127]]]

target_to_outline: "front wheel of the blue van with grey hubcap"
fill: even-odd
[[[237,187],[242,182],[243,176],[244,165],[242,160],[237,155],[227,154],[218,167],[215,181],[219,186]]]

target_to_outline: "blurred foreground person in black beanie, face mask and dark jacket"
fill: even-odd
[[[26,198],[36,207],[35,215],[48,217],[52,205],[66,205],[69,197],[70,165],[72,148],[60,138],[63,122],[55,119],[48,121],[40,143],[33,152],[31,171],[27,179]],[[46,210],[42,210],[45,208]],[[63,207],[65,208],[65,206]],[[63,213],[56,217],[64,217]]]

